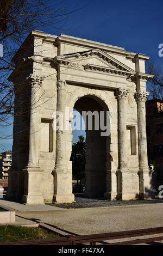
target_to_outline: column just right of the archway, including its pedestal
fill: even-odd
[[[126,101],[128,90],[118,88],[118,170],[117,170],[117,199],[133,199],[130,187],[130,173],[127,164],[127,132],[126,132]]]

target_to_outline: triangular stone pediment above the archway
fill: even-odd
[[[78,70],[106,72],[127,77],[135,74],[133,69],[99,49],[57,56],[54,62]]]

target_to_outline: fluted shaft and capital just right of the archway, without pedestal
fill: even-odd
[[[126,159],[126,99],[128,90],[118,88],[116,98],[118,100],[118,169],[127,168]]]

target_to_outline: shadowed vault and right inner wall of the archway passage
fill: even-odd
[[[109,152],[110,148],[108,143],[110,141],[110,139],[108,139],[110,138],[108,106],[98,97],[86,95],[76,101],[74,109],[82,115],[85,121],[86,153],[84,196],[104,198],[104,193],[106,192],[107,152]],[[80,127],[84,126],[80,124]],[[73,131],[72,134],[74,136]]]

